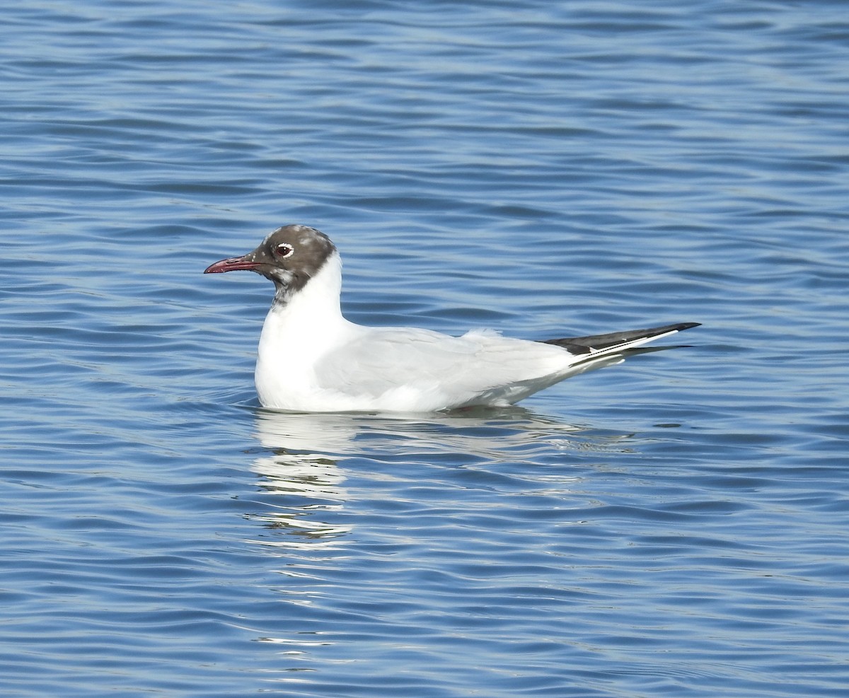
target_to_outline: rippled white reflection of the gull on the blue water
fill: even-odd
[[[624,448],[627,434],[600,434],[524,408],[480,408],[447,414],[298,414],[256,411],[261,443],[253,469],[266,506],[256,515],[267,532],[257,542],[285,549],[332,549],[351,534],[346,461],[391,459],[447,464],[527,463],[539,491],[562,492],[577,479],[545,467],[554,451]],[[340,464],[343,464],[340,466]],[[360,475],[363,475],[362,473]],[[371,473],[367,476],[374,476]],[[362,483],[360,483],[362,485]],[[273,531],[273,535],[270,533]]]

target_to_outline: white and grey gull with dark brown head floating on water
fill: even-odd
[[[256,250],[215,262],[204,273],[239,269],[274,284],[256,359],[259,400],[267,408],[297,412],[508,405],[699,324],[545,341],[492,330],[455,337],[430,329],[364,327],[342,316],[338,250],[327,235],[304,225],[278,228]]]

